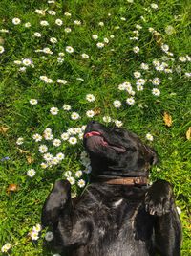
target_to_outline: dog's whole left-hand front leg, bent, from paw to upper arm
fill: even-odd
[[[85,244],[91,223],[84,216],[75,216],[68,180],[58,180],[42,210],[42,225],[53,229],[54,242],[59,247]]]

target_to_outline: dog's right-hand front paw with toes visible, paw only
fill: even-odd
[[[171,211],[173,191],[165,180],[156,181],[145,194],[145,210],[150,215],[162,216]]]

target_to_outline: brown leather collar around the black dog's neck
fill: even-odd
[[[147,185],[147,177],[123,177],[123,178],[114,178],[105,181],[107,184],[111,185]]]

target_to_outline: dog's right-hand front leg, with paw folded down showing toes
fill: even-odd
[[[181,225],[171,185],[156,181],[145,195],[146,211],[155,217],[156,248],[162,256],[180,256]]]

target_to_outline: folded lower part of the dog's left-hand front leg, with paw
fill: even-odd
[[[42,209],[41,222],[43,227],[57,226],[63,206],[70,197],[71,185],[68,180],[57,180]]]

